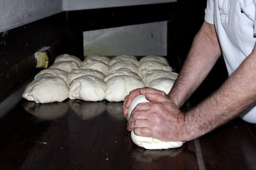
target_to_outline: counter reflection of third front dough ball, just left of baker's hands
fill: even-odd
[[[113,116],[115,119],[122,120],[123,117],[123,102],[107,102],[106,103],[107,113]]]

